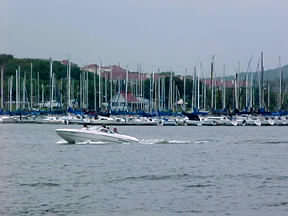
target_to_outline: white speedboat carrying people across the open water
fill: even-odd
[[[83,127],[81,129],[56,129],[56,133],[68,143],[92,142],[139,142],[135,137],[119,134],[108,127]]]

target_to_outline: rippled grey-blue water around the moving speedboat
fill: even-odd
[[[141,142],[115,145],[59,127],[0,125],[0,215],[288,215],[287,127],[119,127]]]

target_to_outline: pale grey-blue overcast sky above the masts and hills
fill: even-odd
[[[1,0],[0,53],[178,72],[288,62],[287,0]],[[228,72],[227,72],[228,73]]]

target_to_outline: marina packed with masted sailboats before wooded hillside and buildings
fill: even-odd
[[[0,55],[0,122],[288,125],[287,66],[280,57],[270,73],[264,71],[263,52],[245,69],[240,63],[233,70],[216,63],[213,56],[176,74],[156,67],[147,72],[142,65],[136,71],[102,64],[80,68],[70,60]]]

